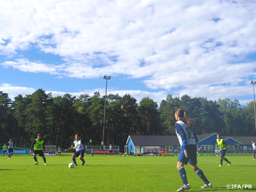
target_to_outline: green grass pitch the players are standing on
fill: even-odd
[[[77,160],[78,166],[68,168],[72,162],[71,154],[61,157],[47,156],[47,166],[41,157],[39,165],[34,165],[32,155],[13,155],[11,159],[0,156],[0,191],[176,191],[182,180],[176,169],[178,156],[126,156],[86,155],[86,164]],[[230,184],[251,184],[256,190],[256,160],[252,154],[227,154],[222,167],[217,156],[199,156],[198,167],[203,170],[213,188],[201,189],[202,180],[190,168],[186,169],[190,192],[197,191],[241,191],[227,189]],[[6,183],[6,184],[4,184]],[[243,189],[248,190],[248,189]]]

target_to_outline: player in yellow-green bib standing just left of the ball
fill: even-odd
[[[43,152],[43,148],[44,148],[44,141],[41,139],[41,134],[38,134],[37,135],[37,139],[35,139],[31,145],[31,149],[30,149],[30,153],[32,153],[32,149],[33,149],[33,146],[34,146],[34,152],[33,152],[33,157],[34,157],[34,160],[35,160],[35,165],[38,165],[38,162],[37,162],[37,158],[36,158],[36,155],[38,154],[40,157],[43,158],[44,160],[44,165],[47,165],[46,164],[46,158],[44,156],[44,152],[45,152],[45,149],[44,149],[44,152]]]

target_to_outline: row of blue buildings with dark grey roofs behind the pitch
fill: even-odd
[[[197,135],[198,151],[215,152],[218,150],[217,134],[202,134]],[[252,140],[256,141],[254,136],[222,136],[227,143],[227,152],[252,152]],[[160,150],[168,153],[174,152],[175,149],[180,150],[180,143],[177,136],[140,136],[130,135],[124,146],[126,153],[142,153],[146,146],[160,146]],[[161,152],[162,153],[162,152]]]

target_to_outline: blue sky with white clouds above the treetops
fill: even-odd
[[[2,0],[0,90],[253,100],[256,0]]]

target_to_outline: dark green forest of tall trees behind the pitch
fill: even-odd
[[[0,142],[12,138],[16,146],[31,144],[36,134],[43,135],[45,144],[69,147],[74,134],[85,142],[101,145],[104,100],[99,92],[93,96],[70,94],[53,97],[42,89],[12,101],[0,91]],[[124,148],[129,135],[175,135],[174,112],[186,110],[194,118],[196,134],[222,132],[228,136],[255,136],[254,102],[241,106],[229,98],[218,101],[206,98],[181,98],[167,95],[160,106],[150,98],[138,103],[126,94],[109,94],[106,98],[106,127],[104,143]]]

